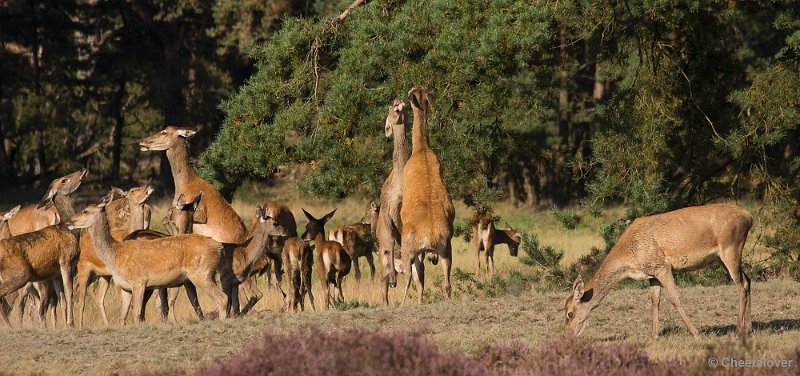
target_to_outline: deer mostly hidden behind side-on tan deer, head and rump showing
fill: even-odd
[[[108,222],[111,236],[117,241],[122,241],[128,234],[137,230],[146,230],[150,227],[150,208],[149,205],[145,203],[153,193],[153,187],[149,182],[144,186],[134,187],[128,191],[123,191],[119,188],[113,188],[113,190],[120,198],[111,201],[106,208],[106,213],[108,213],[109,216]],[[83,312],[86,308],[86,289],[89,287],[89,281],[92,275],[98,277],[97,289],[95,290],[95,302],[100,309],[100,317],[103,319],[103,323],[108,325],[105,297],[111,280],[111,272],[97,255],[94,249],[94,243],[92,242],[92,235],[88,231],[81,231],[79,244],[81,254],[78,258],[77,279],[78,326],[83,327]],[[117,289],[119,291],[119,287],[117,287]],[[127,317],[128,308],[129,307],[122,307],[123,317]]]

